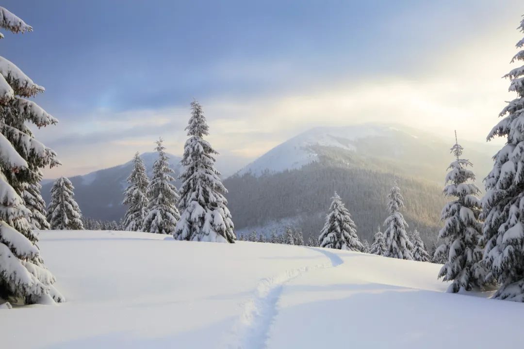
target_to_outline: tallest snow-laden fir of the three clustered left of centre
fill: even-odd
[[[231,213],[227,208],[220,172],[214,167],[218,154],[208,141],[209,126],[202,107],[196,100],[191,103],[191,118],[185,128],[190,137],[184,145],[180,175],[181,218],[174,238],[178,240],[235,242]]]

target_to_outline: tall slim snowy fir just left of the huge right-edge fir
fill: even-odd
[[[455,160],[447,168],[450,172],[445,178],[444,195],[453,201],[442,209],[444,227],[439,232],[441,245],[435,255],[447,255],[439,277],[453,281],[449,292],[459,292],[482,287],[486,270],[481,263],[483,251],[479,246],[482,237],[482,224],[478,222],[481,201],[476,195],[480,190],[473,184],[475,174],[467,168],[472,166],[471,162],[461,159],[463,148],[456,140],[456,132],[451,152]]]

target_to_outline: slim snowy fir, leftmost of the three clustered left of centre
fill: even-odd
[[[124,192],[123,201],[123,205],[128,206],[124,216],[124,230],[141,231],[148,205],[147,186],[149,185],[149,178],[147,177],[146,166],[138,152],[133,158],[133,170],[127,177],[127,183],[129,183],[129,186]]]

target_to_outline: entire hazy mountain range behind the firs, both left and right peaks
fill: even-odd
[[[446,168],[453,160],[449,149],[454,135],[449,136],[445,141],[419,130],[373,124],[303,132],[224,179],[237,233],[281,232],[289,224],[303,230],[306,237],[316,236],[336,190],[350,210],[360,237],[371,240],[387,216],[387,194],[396,177],[405,197],[403,213],[410,228],[417,228],[425,241],[432,241],[445,202],[442,188]],[[474,164],[477,184],[482,188],[494,148],[462,143],[464,157]],[[157,154],[142,156],[150,175]],[[176,175],[180,173],[179,161],[179,157],[170,155]],[[119,220],[124,216],[122,193],[131,168],[131,162],[127,162],[70,178],[85,217]],[[43,184],[46,201],[50,188],[51,183]]]

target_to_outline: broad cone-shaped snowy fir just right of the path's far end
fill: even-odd
[[[319,246],[330,249],[362,251],[364,246],[358,239],[357,227],[351,219],[338,194],[332,197],[331,206],[326,215],[324,228],[319,236]]]

